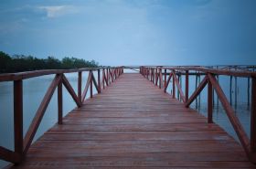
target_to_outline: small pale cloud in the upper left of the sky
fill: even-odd
[[[39,6],[38,9],[45,11],[48,18],[65,16],[79,12],[79,8],[74,5],[44,5]]]

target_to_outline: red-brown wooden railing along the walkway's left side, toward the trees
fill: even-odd
[[[84,90],[81,90],[82,73],[89,71],[88,79]],[[98,73],[98,79],[95,79],[93,72]],[[78,94],[73,90],[64,73],[78,73]],[[51,81],[48,90],[41,101],[36,115],[31,122],[27,133],[23,133],[23,79],[29,79],[34,77],[40,77],[44,75],[55,74],[55,78]],[[52,95],[56,89],[58,89],[58,123],[62,124],[62,86],[69,91],[72,99],[80,107],[82,102],[86,98],[86,94],[90,89],[90,97],[93,97],[92,89],[93,85],[101,93],[105,86],[109,86],[112,81],[117,79],[123,74],[123,67],[115,68],[96,68],[96,69],[68,69],[68,70],[37,70],[22,73],[12,73],[0,75],[1,81],[13,81],[14,82],[14,143],[15,150],[11,151],[5,147],[0,146],[0,158],[14,164],[19,164],[23,161],[26,153],[35,137],[38,126],[42,121],[45,111],[48,108],[48,103],[52,98]],[[81,92],[82,91],[82,92]]]

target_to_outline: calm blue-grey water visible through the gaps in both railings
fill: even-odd
[[[125,71],[130,72],[130,71]],[[97,73],[94,72],[95,79],[97,79]],[[76,91],[78,90],[78,73],[69,73],[66,74],[67,79],[69,79],[69,83]],[[82,76],[82,89],[84,89],[86,84],[86,79],[88,77],[88,73],[84,72]],[[33,79],[25,79],[23,81],[23,92],[24,92],[24,133],[27,132],[29,124],[34,118],[34,115],[37,111],[37,108],[43,99],[46,91],[48,90],[48,86],[51,83],[52,79],[54,79],[54,75],[48,75]],[[203,79],[203,77],[201,77]],[[182,81],[182,89],[185,89],[185,77],[181,79]],[[236,115],[239,117],[240,122],[242,123],[245,131],[248,135],[250,135],[250,116],[251,112],[247,106],[247,79],[238,79],[238,104],[235,107],[233,103],[234,109],[236,108]],[[219,83],[224,90],[227,98],[229,98],[229,77],[221,76],[219,77]],[[172,83],[170,83],[167,92],[171,92]],[[195,90],[195,77],[189,77],[189,96]],[[234,85],[233,85],[233,91]],[[93,93],[96,93],[95,88],[93,89]],[[89,95],[89,92],[88,92]],[[88,98],[89,96],[87,96]],[[234,92],[232,92],[232,98],[234,100]],[[197,109],[199,113],[202,113],[207,117],[207,87],[200,94],[200,104],[196,101],[191,104],[191,108]],[[57,90],[53,94],[53,97],[48,105],[48,109],[43,117],[43,120],[37,130],[37,134],[34,140],[37,140],[40,135],[44,132],[47,132],[48,129],[53,126],[58,121],[58,102],[57,102]],[[63,115],[65,116],[69,111],[76,107],[76,103],[72,100],[68,91],[63,87]],[[13,82],[0,82],[0,145],[8,148],[10,150],[14,150],[14,132],[13,132]],[[234,132],[229,119],[226,115],[226,112],[221,107],[221,103],[219,102],[219,106],[217,106],[217,96],[215,95],[215,106],[213,110],[213,121],[218,123],[224,130],[229,132],[229,134],[234,137],[237,141],[237,135]],[[7,163],[4,161],[0,161],[0,168],[5,166]]]

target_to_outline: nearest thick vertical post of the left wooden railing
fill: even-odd
[[[23,84],[22,79],[14,81],[14,134],[15,152],[23,157]]]

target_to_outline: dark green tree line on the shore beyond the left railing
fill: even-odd
[[[0,73],[13,73],[37,69],[80,69],[96,68],[98,63],[94,60],[87,61],[83,58],[65,57],[36,58],[33,56],[14,55],[10,56],[0,51]]]

